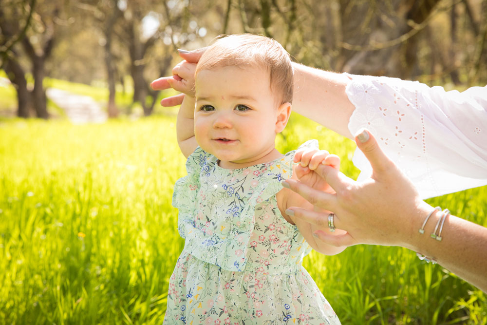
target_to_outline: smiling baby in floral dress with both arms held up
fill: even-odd
[[[311,248],[328,255],[343,248],[315,240],[315,226],[285,213],[311,205],[282,180],[327,190],[312,171],[339,166],[317,141],[284,155],[275,148],[291,114],[289,55],[271,38],[218,38],[196,66],[194,87],[192,78],[169,81],[186,94],[177,135],[187,176],[174,186],[185,247],[170,278],[165,322],[339,324],[301,262]]]

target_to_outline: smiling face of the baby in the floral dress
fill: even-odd
[[[234,66],[202,70],[195,80],[194,134],[220,166],[255,165],[274,149],[278,104],[269,73]]]

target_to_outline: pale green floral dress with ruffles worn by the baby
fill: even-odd
[[[294,153],[234,170],[199,147],[188,157],[174,186],[185,247],[165,324],[340,324],[301,266],[311,248],[277,205]]]

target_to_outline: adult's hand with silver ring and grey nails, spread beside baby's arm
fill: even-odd
[[[382,152],[367,130],[356,135],[358,148],[370,161],[373,173],[364,182],[356,182],[337,169],[319,165],[318,173],[335,191],[326,193],[296,180],[287,180],[296,191],[314,206],[335,212],[334,224],[346,230],[341,235],[315,232],[318,239],[333,246],[377,244],[408,247],[412,233],[421,226],[432,208],[423,202],[408,178]],[[287,186],[286,186],[287,187]],[[328,227],[328,213],[297,207],[294,215],[305,221]]]

